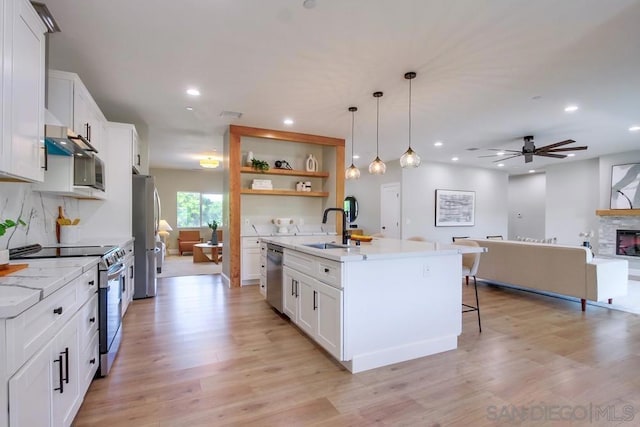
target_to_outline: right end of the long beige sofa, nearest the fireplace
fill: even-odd
[[[606,301],[627,294],[629,262],[596,258],[587,263],[587,299]]]

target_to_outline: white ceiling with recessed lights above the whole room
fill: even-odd
[[[62,28],[49,66],[78,73],[107,119],[135,123],[152,167],[221,158],[232,123],[344,137],[350,153],[354,105],[366,170],[378,90],[380,157],[396,161],[408,144],[407,71],[417,72],[411,135],[423,160],[496,168],[478,156],[520,150],[525,135],[589,149],[507,160],[509,173],[640,148],[628,130],[640,125],[639,0],[44,2]],[[571,103],[579,110],[565,113]]]

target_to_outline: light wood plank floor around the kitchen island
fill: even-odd
[[[257,287],[160,279],[74,425],[639,425],[639,316],[478,287],[482,333],[467,313],[457,350],[352,375]]]

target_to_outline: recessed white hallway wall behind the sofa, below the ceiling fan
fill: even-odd
[[[546,182],[544,173],[509,177],[509,239],[553,237],[545,228]]]

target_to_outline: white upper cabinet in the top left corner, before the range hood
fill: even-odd
[[[27,0],[0,0],[0,178],[44,176],[45,26]]]

